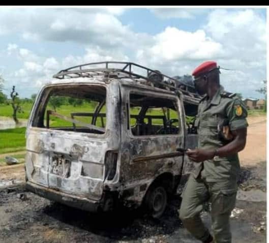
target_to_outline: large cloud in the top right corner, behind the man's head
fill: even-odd
[[[237,71],[223,71],[228,90],[243,96],[260,96],[255,92],[266,78],[266,24],[255,10],[215,10],[204,26],[208,35],[223,45],[226,56],[220,66]]]

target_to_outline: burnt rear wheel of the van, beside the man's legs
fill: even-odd
[[[158,219],[162,216],[167,206],[167,192],[162,185],[150,188],[145,197],[145,209],[147,214]]]

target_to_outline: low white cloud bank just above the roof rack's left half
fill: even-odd
[[[52,76],[58,71],[72,66],[115,59],[122,62],[129,61],[129,57],[118,49],[106,50],[99,46],[87,47],[85,53],[81,56],[67,55],[63,58],[53,56],[45,58],[18,46],[16,51],[13,54],[21,63],[22,68],[10,73],[7,77],[15,82],[24,83],[25,86],[29,84],[32,87],[40,87],[51,80]],[[31,60],[32,58],[29,58],[29,56],[34,56],[35,61]]]

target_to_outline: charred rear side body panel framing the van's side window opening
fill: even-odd
[[[183,157],[175,151],[177,147],[184,146],[184,132],[175,135],[133,136],[128,110],[130,89],[121,89],[123,101],[119,183],[124,201],[139,205],[147,188],[159,175],[180,175]],[[180,124],[183,124],[183,117],[180,116],[180,119]]]

